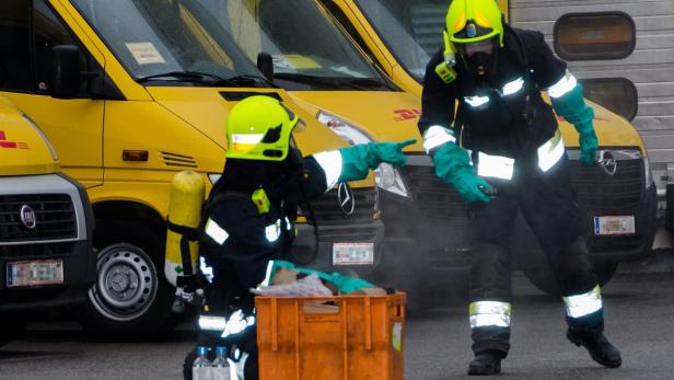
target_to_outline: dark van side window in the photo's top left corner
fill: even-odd
[[[31,91],[31,2],[0,1],[0,89]]]

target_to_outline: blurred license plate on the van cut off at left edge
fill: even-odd
[[[30,287],[63,284],[63,261],[7,263],[7,287]]]

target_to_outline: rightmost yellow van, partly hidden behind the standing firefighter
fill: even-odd
[[[442,44],[441,32],[449,0],[317,1],[339,21],[376,67],[399,88],[420,99],[426,65]],[[508,1],[499,1],[499,4],[508,14]],[[416,104],[417,107],[402,113],[400,117],[416,123],[420,102]],[[646,147],[635,128],[623,117],[591,104],[596,113],[594,125],[600,140],[600,165],[589,169],[580,165],[576,130],[566,122],[560,123],[560,129],[572,160],[578,199],[588,210],[592,257],[601,281],[606,283],[618,262],[637,260],[650,253],[655,230],[656,191]],[[396,127],[395,124],[380,125],[376,130],[368,133],[377,136],[377,130]],[[407,250],[423,247],[415,263],[418,264],[417,270],[435,273],[440,279],[460,278],[448,276],[448,272],[456,274],[456,269],[462,268],[465,272],[470,263],[472,251],[465,239],[469,210],[453,189],[434,176],[432,163],[421,149],[410,154],[410,164],[400,173],[400,180],[412,201],[398,204],[395,208],[408,217],[396,220],[403,226],[391,222],[386,219],[390,203],[382,199],[386,230],[407,231]],[[612,222],[606,223],[607,220]],[[531,238],[523,223],[520,224],[519,230]],[[624,227],[625,233],[618,233]],[[542,289],[554,291],[553,277],[542,270],[535,260],[543,255],[531,254],[539,250],[533,242],[534,239],[516,239],[513,243],[514,250],[530,253],[520,255],[520,267]],[[404,246],[404,242],[397,246]],[[527,265],[530,263],[536,265]],[[415,278],[421,278],[420,287],[433,283],[429,277]],[[438,295],[435,291],[420,293]]]

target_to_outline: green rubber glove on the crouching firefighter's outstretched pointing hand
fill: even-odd
[[[341,174],[337,182],[362,180],[368,176],[370,170],[376,169],[382,162],[396,168],[404,166],[407,158],[403,154],[403,148],[416,141],[409,139],[402,142],[369,142],[339,149]]]

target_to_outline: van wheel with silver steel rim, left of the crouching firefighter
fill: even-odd
[[[96,280],[80,322],[106,341],[158,337],[171,325],[174,289],[163,275],[165,233],[138,221],[96,223]]]

